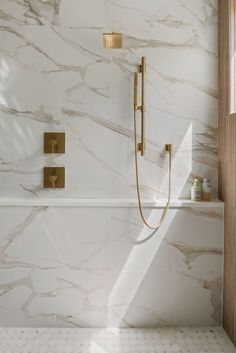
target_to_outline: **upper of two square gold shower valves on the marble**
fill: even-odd
[[[45,132],[44,153],[65,153],[65,133]]]

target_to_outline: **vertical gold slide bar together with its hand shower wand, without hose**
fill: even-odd
[[[138,73],[134,73],[134,111],[141,111],[141,142],[138,143],[138,151],[141,156],[145,154],[145,78],[146,78],[146,58],[143,56],[141,65],[139,65],[139,73],[142,75],[141,86],[141,105],[138,105]]]

